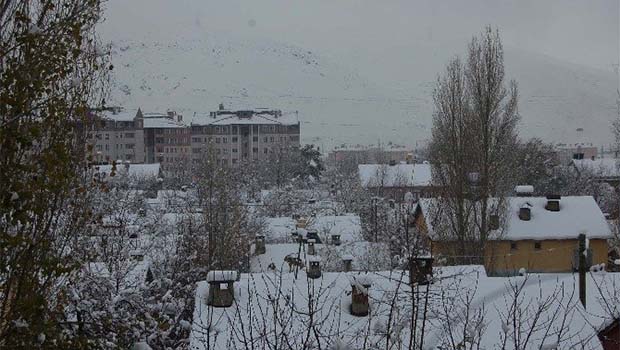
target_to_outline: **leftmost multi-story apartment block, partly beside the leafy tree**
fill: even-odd
[[[95,113],[86,133],[86,142],[92,145],[94,161],[110,163],[114,160],[144,163],[144,132],[142,119],[135,111],[112,107]]]

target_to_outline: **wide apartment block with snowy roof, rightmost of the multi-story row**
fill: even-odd
[[[191,125],[192,159],[197,162],[209,148],[218,164],[266,160],[270,154],[298,148],[299,120],[280,110],[226,110],[196,116]]]

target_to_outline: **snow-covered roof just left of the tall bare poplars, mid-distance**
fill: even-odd
[[[430,164],[360,164],[360,182],[364,187],[431,186]]]

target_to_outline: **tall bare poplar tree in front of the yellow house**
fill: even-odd
[[[443,233],[461,253],[481,255],[491,215],[505,210],[513,184],[506,174],[514,164],[517,100],[516,83],[505,86],[502,43],[491,28],[472,39],[466,63],[454,59],[437,82],[430,145],[440,187],[435,212],[447,218]]]

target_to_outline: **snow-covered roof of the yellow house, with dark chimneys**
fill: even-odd
[[[592,196],[566,196],[560,199],[560,211],[545,209],[546,197],[508,197],[506,226],[500,236],[502,240],[576,239],[580,233],[588,238],[608,239],[611,230],[603,212]],[[425,217],[435,199],[421,199],[419,206]],[[530,220],[519,218],[519,209],[530,208]],[[434,234],[431,220],[426,220],[429,234]]]

